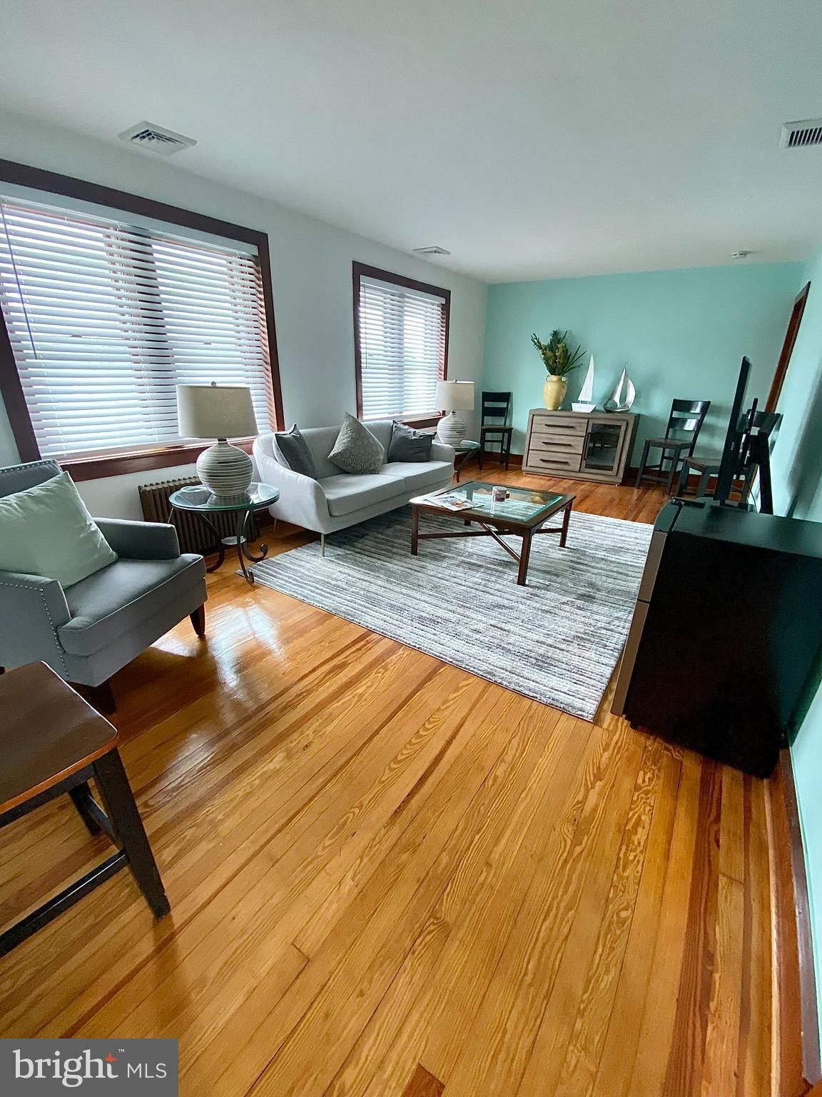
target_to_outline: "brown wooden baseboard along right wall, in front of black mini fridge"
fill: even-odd
[[[774,1094],[804,1097],[822,1081],[808,874],[794,767],[786,748],[768,782]]]

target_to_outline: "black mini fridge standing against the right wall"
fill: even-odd
[[[667,504],[613,711],[767,777],[822,653],[822,525]]]

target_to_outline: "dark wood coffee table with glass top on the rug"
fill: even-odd
[[[502,545],[510,556],[520,565],[516,581],[524,587],[528,577],[528,559],[530,543],[535,533],[558,533],[560,548],[566,547],[568,540],[568,523],[571,520],[571,509],[576,498],[573,495],[557,495],[556,491],[535,491],[530,488],[503,486],[507,498],[494,502],[491,491],[495,485],[471,480],[469,484],[457,484],[454,487],[433,491],[431,495],[411,499],[411,555],[416,556],[420,541],[434,538],[493,538]],[[456,496],[470,502],[466,510],[449,510],[437,505],[439,495]],[[562,524],[543,529],[543,524],[552,514],[562,512]],[[420,533],[420,514],[436,514],[437,518],[453,518],[463,523],[463,529],[441,530],[437,533]],[[470,529],[479,525],[478,530]],[[503,541],[506,534],[522,538],[521,552],[515,552]]]

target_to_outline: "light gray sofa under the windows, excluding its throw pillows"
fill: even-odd
[[[388,453],[391,420],[365,425]],[[454,450],[434,442],[431,461],[393,461],[374,475],[352,476],[328,460],[339,427],[310,427],[301,431],[317,466],[317,479],[282,465],[274,454],[274,436],[261,434],[254,442],[254,460],[260,479],[279,488],[279,499],[269,509],[274,518],[321,534],[356,525],[425,495],[447,487],[454,475]]]

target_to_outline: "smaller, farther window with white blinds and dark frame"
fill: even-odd
[[[446,376],[450,291],[354,263],[361,419],[435,419]]]

